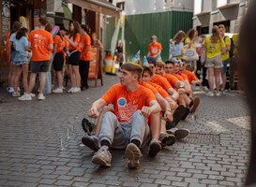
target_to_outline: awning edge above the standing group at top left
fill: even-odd
[[[114,7],[106,0],[66,0],[66,3],[114,17],[119,17],[121,11],[119,7]]]

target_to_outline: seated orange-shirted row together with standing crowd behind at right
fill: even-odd
[[[158,37],[152,36],[143,62],[136,54],[132,62],[121,65],[120,83],[114,84],[88,110],[90,118],[98,118],[95,134],[88,132],[88,127],[92,127],[88,119],[82,123],[87,133],[82,142],[95,151],[92,162],[111,166],[110,148],[124,149],[128,168],[138,168],[144,146],[148,147],[149,156],[155,157],[176,139],[188,137],[189,130],[178,128],[178,123],[200,105],[200,98],[192,90],[192,85],[203,82],[196,69],[203,65],[207,71],[207,95],[220,96],[225,89],[231,40],[224,34],[224,25],[214,26],[211,36],[200,38],[194,29],[188,35],[179,31],[171,40],[170,58],[165,62],[160,57],[162,46]],[[189,56],[187,50],[195,52]]]

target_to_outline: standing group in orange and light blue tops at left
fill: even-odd
[[[39,18],[38,29],[30,33],[20,22],[14,22],[7,42],[10,61],[8,93],[21,101],[32,100],[36,96],[33,89],[38,78],[38,100],[44,100],[44,94],[64,92],[65,74],[71,83],[68,93],[81,93],[89,88],[91,46],[103,49],[97,35],[90,36],[90,28],[79,22],[70,22],[69,30],[66,30],[63,26],[53,27],[46,18]],[[21,75],[23,95],[19,85]]]

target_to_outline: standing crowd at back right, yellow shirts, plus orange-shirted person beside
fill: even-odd
[[[158,43],[157,36],[152,36],[151,40],[148,56],[158,58],[162,46]],[[207,95],[220,96],[227,89],[234,90],[237,48],[237,34],[232,38],[225,36],[223,24],[213,26],[210,36],[198,36],[195,29],[190,29],[187,34],[179,31],[170,40],[169,60],[181,64],[180,59],[186,59],[188,69],[194,72],[198,79],[202,79],[202,82],[195,83],[195,87],[202,83]],[[228,66],[230,66],[229,86],[226,85]]]

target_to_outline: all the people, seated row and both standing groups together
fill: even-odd
[[[89,87],[91,46],[103,49],[97,36],[89,36],[88,26],[79,22],[70,22],[68,32],[63,27],[56,35],[53,31],[54,27],[45,18],[40,18],[38,29],[30,33],[21,27],[20,22],[14,22],[12,26],[8,41],[11,62],[8,92],[21,101],[32,100],[35,96],[32,91],[37,76],[38,100],[44,100],[44,94],[63,93],[66,61],[71,83],[68,93],[81,93]],[[111,166],[109,148],[115,148],[125,149],[128,167],[137,168],[143,146],[148,146],[149,156],[155,157],[163,147],[188,137],[189,130],[177,125],[200,105],[200,98],[193,94],[192,88],[205,79],[202,80],[198,72],[202,65],[207,71],[207,95],[220,96],[225,89],[231,40],[225,37],[224,25],[214,26],[212,35],[207,37],[199,37],[194,29],[190,29],[187,35],[179,31],[170,42],[170,58],[165,62],[160,57],[162,47],[158,37],[152,36],[151,39],[143,61],[136,54],[133,62],[124,64],[123,43],[119,42],[115,59],[122,63],[118,73],[120,82],[88,110],[90,118],[98,118],[94,135],[88,132],[87,127],[92,126],[90,121],[83,121],[87,135],[82,142],[96,151],[92,158],[95,164]],[[188,56],[187,50],[195,52]],[[52,65],[56,76],[53,90]],[[21,75],[23,95],[19,91]]]

